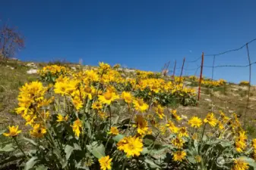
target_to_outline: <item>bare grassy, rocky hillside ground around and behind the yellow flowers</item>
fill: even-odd
[[[87,70],[89,66],[80,66],[72,63],[56,62],[68,66],[73,70]],[[8,60],[8,63],[0,64],[0,127],[5,128],[10,122],[18,123],[19,116],[14,111],[17,107],[17,94],[19,88],[25,82],[33,82],[39,79],[37,73],[33,70],[40,70],[47,63],[31,63],[17,60]],[[32,70],[32,72],[31,72]],[[127,78],[133,76],[134,70],[119,69],[122,76]],[[171,81],[171,76],[164,76],[166,80]],[[198,80],[185,79],[184,85],[188,88],[194,88],[198,91]],[[172,107],[179,110],[183,117],[205,116],[208,112],[218,112],[223,110],[225,113],[237,113],[244,120],[244,114],[247,107],[248,86],[227,83],[219,87],[206,87],[202,85],[201,99],[197,106],[183,106],[182,104],[173,104]],[[251,135],[256,135],[254,129],[254,120],[256,120],[256,87],[251,86],[249,104],[247,110],[247,130]]]

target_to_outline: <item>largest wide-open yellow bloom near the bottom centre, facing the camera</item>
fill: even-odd
[[[127,157],[140,156],[143,150],[142,139],[134,137],[125,137],[117,144],[119,150],[124,150]]]

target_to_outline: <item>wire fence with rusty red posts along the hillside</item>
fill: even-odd
[[[214,75],[216,73],[216,70],[218,68],[223,68],[223,73],[225,73],[227,70],[229,70],[229,68],[242,68],[242,69],[246,69],[248,70],[248,74],[246,74],[246,76],[248,75],[248,88],[246,88],[246,91],[247,91],[247,98],[246,98],[246,101],[245,103],[243,104],[239,104],[239,103],[234,103],[233,101],[231,100],[227,100],[226,98],[222,98],[220,96],[216,96],[216,94],[213,93],[213,89],[210,91],[210,97],[211,97],[211,100],[212,100],[212,106],[214,106],[214,101],[213,100],[220,100],[221,102],[223,103],[229,103],[229,104],[232,104],[234,105],[235,107],[240,107],[243,109],[243,112],[242,115],[244,116],[244,124],[246,124],[246,117],[247,117],[247,114],[248,114],[248,110],[252,111],[252,112],[255,112],[256,109],[254,108],[251,108],[253,106],[250,106],[250,95],[251,95],[251,66],[256,64],[256,61],[251,61],[251,56],[250,56],[250,49],[249,49],[249,45],[251,45],[252,42],[255,42],[256,39],[252,39],[251,41],[249,42],[246,42],[244,45],[240,46],[239,48],[234,48],[234,49],[231,49],[231,50],[228,50],[228,51],[223,51],[223,52],[219,52],[219,53],[216,53],[216,54],[204,54],[204,52],[201,54],[200,57],[194,59],[194,60],[185,60],[185,58],[183,59],[183,62],[182,62],[182,66],[181,67],[178,67],[176,68],[176,60],[175,60],[175,66],[172,70],[172,73],[173,73],[173,76],[175,76],[175,73],[179,75],[179,76],[182,76],[182,74],[184,73],[184,71],[187,71],[190,73],[190,75],[194,75],[194,76],[198,76],[200,77],[199,80],[198,80],[198,101],[199,101],[199,104],[200,104],[200,96],[201,96],[201,82],[202,82],[202,76],[204,75],[204,70],[205,69],[211,69],[210,70],[210,74],[208,73],[208,76],[210,77],[209,79],[213,80],[214,78]],[[245,51],[242,51],[242,49],[245,49]],[[242,56],[242,63],[245,63],[245,64],[241,64],[241,65],[236,65],[236,64],[219,64],[219,65],[216,65],[216,62],[219,61],[219,63],[222,63],[223,60],[226,59],[226,54],[231,54],[231,53],[234,53],[234,52],[238,52],[238,51],[242,51],[241,55]],[[209,65],[204,65],[204,58],[207,58],[207,60],[212,60],[212,64],[210,64],[211,66]],[[228,62],[230,62],[231,60],[228,60]],[[234,57],[232,58],[232,61],[235,61]],[[209,64],[210,62],[208,62]],[[191,64],[193,65],[196,65],[196,66],[191,66]],[[168,63],[168,66],[169,66],[169,63]],[[185,68],[186,66],[186,68]],[[190,68],[191,67],[191,68]],[[168,67],[167,67],[168,69]],[[200,72],[199,72],[200,71]],[[198,73],[200,73],[198,75]],[[230,76],[235,76],[235,74],[233,75],[230,75]],[[243,75],[243,77],[245,77],[245,75]],[[244,80],[244,79],[241,79],[241,80]],[[255,90],[255,88],[254,88]],[[243,100],[244,102],[244,100]],[[256,105],[256,104],[255,104]],[[211,108],[213,110],[213,107]]]

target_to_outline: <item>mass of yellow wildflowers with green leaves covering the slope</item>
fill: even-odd
[[[46,159],[42,162],[52,169],[140,169],[141,165],[150,169],[148,164],[165,169],[173,165],[221,169],[215,163],[220,158],[212,161],[211,156],[225,150],[233,156],[221,155],[226,167],[243,170],[249,165],[239,156],[256,157],[256,139],[248,141],[235,113],[191,113],[187,118],[179,107],[172,106],[173,100],[183,105],[185,100],[195,100],[194,89],[183,84],[185,77],[162,79],[140,70],[124,76],[119,66],[107,63],[77,71],[46,66],[40,76],[48,73],[55,79],[26,83],[20,88],[16,112],[30,127],[28,134],[45,145],[33,143],[35,154],[43,148],[40,156]],[[203,82],[226,84],[222,79]],[[9,126],[8,130],[4,135],[14,140],[21,134],[18,126]],[[56,167],[47,162],[53,158]]]

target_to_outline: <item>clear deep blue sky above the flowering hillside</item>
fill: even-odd
[[[164,63],[194,60],[256,38],[256,1],[2,1],[0,18],[26,37],[21,60],[63,58],[159,71]],[[256,42],[250,45],[256,61]],[[193,69],[198,63],[186,64]],[[248,64],[246,50],[216,57],[216,65]],[[212,65],[206,57],[205,65]],[[177,73],[179,71],[177,70]],[[253,66],[252,80],[256,83]],[[199,73],[199,72],[198,72]],[[204,75],[210,76],[211,69]],[[186,71],[185,74],[194,74]],[[217,68],[215,79],[248,79],[248,68]]]

